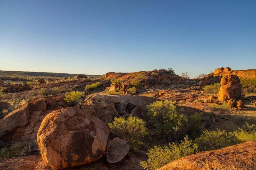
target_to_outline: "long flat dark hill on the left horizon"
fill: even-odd
[[[2,71],[0,70],[0,77],[75,77],[78,74],[68,74],[68,73],[47,73],[47,72],[30,72],[30,71]],[[91,77],[100,77],[102,75],[90,75],[90,74],[80,74]]]

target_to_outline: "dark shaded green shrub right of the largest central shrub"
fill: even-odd
[[[188,135],[192,138],[196,137],[200,133],[200,127],[202,126],[202,119],[203,114],[202,113],[195,113],[190,116],[187,116],[188,118]]]

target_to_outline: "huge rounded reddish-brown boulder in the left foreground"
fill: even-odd
[[[37,133],[42,159],[56,169],[100,159],[108,140],[108,126],[78,108],[49,113]]]

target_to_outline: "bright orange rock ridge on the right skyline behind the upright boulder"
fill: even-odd
[[[229,67],[225,69],[223,67],[214,70],[215,76],[224,77],[226,75],[237,75],[239,78],[256,78],[256,69],[248,70],[231,70]]]

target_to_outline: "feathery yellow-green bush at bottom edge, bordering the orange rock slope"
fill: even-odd
[[[155,146],[147,151],[147,161],[141,161],[140,165],[147,170],[158,169],[172,161],[184,156],[198,153],[198,147],[188,137],[184,137],[180,143],[169,143],[168,146]]]

